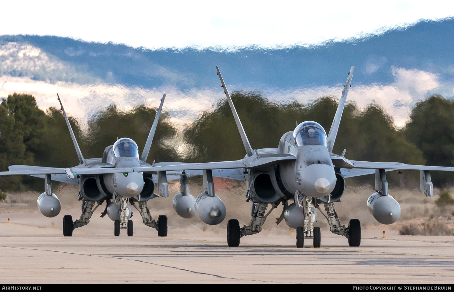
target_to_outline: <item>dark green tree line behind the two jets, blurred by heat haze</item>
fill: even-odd
[[[276,148],[284,133],[306,120],[316,121],[328,131],[337,108],[337,100],[332,97],[321,97],[308,104],[277,103],[259,92],[235,92],[232,99],[255,149]],[[243,158],[246,152],[227,100],[219,100],[213,108],[200,114],[179,136],[192,149],[184,157],[172,144],[164,143],[178,131],[163,112],[148,163],[154,159],[156,162],[208,162]],[[144,105],[124,112],[112,104],[92,117],[84,131],[77,120],[71,117],[69,120],[84,157],[93,158],[101,157],[117,137],[131,138],[143,149],[155,115],[155,108]],[[355,103],[347,103],[333,152],[341,154],[344,149],[345,156],[355,160],[453,166],[454,102],[439,95],[419,101],[403,129],[396,129],[393,119],[378,104],[361,110]],[[49,108],[44,113],[33,96],[16,93],[0,104],[0,171],[15,164],[71,167],[78,163],[59,109]],[[416,172],[403,176],[394,172],[389,180],[401,183],[418,178]],[[453,178],[451,173],[432,175],[436,186],[452,185]],[[3,190],[17,190],[21,186],[42,188],[41,184],[42,180],[25,176],[0,177]]]

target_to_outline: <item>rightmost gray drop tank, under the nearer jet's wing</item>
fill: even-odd
[[[373,193],[367,199],[369,213],[381,224],[392,224],[400,217],[400,205],[390,195]]]

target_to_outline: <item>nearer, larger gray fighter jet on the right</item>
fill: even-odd
[[[237,161],[174,166],[159,166],[160,164],[157,163],[153,170],[203,171],[205,192],[195,200],[195,209],[203,222],[214,225],[222,222],[226,208],[214,193],[212,176],[224,171],[231,173],[233,178],[235,175],[238,176],[238,169],[241,169],[244,177],[237,177],[237,179],[246,180],[246,199],[247,202],[251,202],[251,222],[249,225],[240,227],[238,220],[228,221],[227,243],[231,247],[238,246],[243,236],[259,233],[268,215],[280,203],[284,208],[281,215],[276,218],[276,223],[279,224],[285,220],[288,226],[296,229],[297,247],[303,247],[304,239],[308,238],[312,239],[314,247],[320,247],[320,228],[314,227],[317,220],[315,208],[318,208],[326,218],[332,233],[345,236],[350,246],[357,247],[361,242],[360,221],[351,219],[348,226],[343,225],[335,208],[335,203],[340,201],[345,190],[344,178],[375,173],[375,193],[367,200],[367,207],[378,222],[391,224],[400,217],[400,205],[388,193],[386,171],[420,170],[420,189],[426,196],[431,197],[433,185],[430,180],[430,171],[454,171],[454,168],[355,161],[344,157],[345,150],[342,155],[332,153],[354,70],[355,66],[352,66],[347,74],[347,81],[328,134],[320,124],[306,121],[298,124],[295,130],[282,135],[277,148],[253,150],[217,68],[221,87],[224,89],[246,149],[245,158]],[[137,171],[144,171],[144,169],[137,169]],[[182,184],[184,183],[185,180],[182,179]],[[182,193],[184,189],[187,188],[182,186]],[[173,202],[174,206],[180,203],[179,210],[194,208],[192,201],[181,198],[184,196],[176,196]],[[293,200],[294,203],[289,204],[289,200]],[[266,212],[270,205],[271,209]],[[324,211],[321,206],[324,207]]]

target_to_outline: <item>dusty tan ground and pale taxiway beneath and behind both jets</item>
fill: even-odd
[[[196,182],[191,193],[202,192]],[[0,203],[0,281],[14,283],[123,283],[178,282],[207,283],[256,281],[274,283],[453,283],[454,217],[452,207],[438,208],[434,198],[417,190],[391,189],[401,204],[402,215],[393,225],[376,223],[366,208],[373,190],[347,188],[336,208],[344,223],[358,218],[362,223],[360,247],[328,230],[319,216],[321,248],[295,247],[295,234],[275,218],[273,211],[260,234],[242,238],[240,247],[228,248],[226,224],[230,218],[248,224],[249,203],[245,188],[229,180],[215,182],[216,192],[227,206],[222,224],[208,226],[196,216],[179,218],[172,198],[150,201],[152,215],[168,216],[168,238],[157,238],[155,230],[133,216],[134,237],[122,231],[113,236],[113,222],[99,218],[99,207],[88,226],[74,230],[72,238],[62,236],[65,214],[80,216],[76,188],[60,188],[55,193],[62,211],[55,218],[42,216],[36,207],[39,193],[8,194]],[[171,184],[169,193],[178,192]],[[171,195],[173,197],[173,195]],[[8,218],[10,222],[8,223]],[[425,228],[424,228],[425,227]],[[424,235],[400,235],[421,233]],[[383,238],[382,231],[386,231]],[[404,232],[405,233],[405,232]],[[306,243],[311,246],[311,242]]]

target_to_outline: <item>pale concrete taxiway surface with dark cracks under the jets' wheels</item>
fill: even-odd
[[[148,229],[147,229],[148,230]],[[76,230],[77,231],[77,230]],[[140,232],[139,232],[140,233]],[[150,232],[151,233],[151,232]],[[212,240],[128,238],[0,223],[0,281],[8,283],[423,283],[454,282],[454,238],[322,235],[322,247],[294,237],[254,236],[229,248]],[[365,234],[367,236],[367,234]],[[194,235],[196,237],[198,235]],[[206,236],[207,239],[209,235]]]

